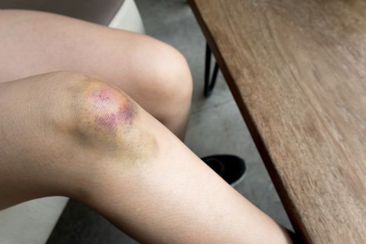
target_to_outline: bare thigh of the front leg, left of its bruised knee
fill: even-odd
[[[73,123],[78,104],[70,91],[84,80],[84,75],[61,72],[0,83],[0,210],[66,195],[60,191],[66,185],[56,175],[76,155],[67,149],[76,146],[69,144],[65,125]]]

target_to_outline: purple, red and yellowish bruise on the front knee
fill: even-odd
[[[138,121],[138,106],[123,92],[92,80],[82,92],[77,138],[80,144],[113,157],[136,161],[152,155],[156,143]],[[138,121],[138,122],[137,122]]]

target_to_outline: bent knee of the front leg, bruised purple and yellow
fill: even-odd
[[[68,119],[58,124],[79,146],[121,160],[153,154],[155,139],[144,130],[143,111],[130,97],[88,75],[72,73],[68,80]]]

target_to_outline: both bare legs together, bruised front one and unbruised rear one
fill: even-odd
[[[0,209],[64,195],[143,243],[290,243],[174,135],[184,135],[192,79],[169,45],[0,10],[0,53]],[[54,70],[93,78],[27,77]]]

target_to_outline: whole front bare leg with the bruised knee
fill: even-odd
[[[290,243],[115,86],[67,72],[5,82],[0,114],[0,208],[66,195],[142,243]]]

